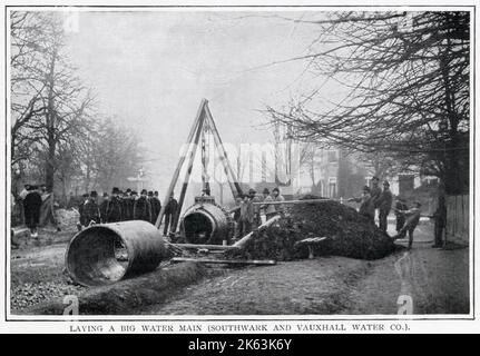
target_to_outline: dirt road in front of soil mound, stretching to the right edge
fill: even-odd
[[[375,261],[320,257],[236,270],[144,313],[394,315],[406,303],[406,313],[468,314],[468,248],[431,248],[430,225],[420,226],[415,236],[411,251]]]

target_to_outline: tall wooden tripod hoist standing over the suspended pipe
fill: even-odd
[[[200,106],[198,107],[194,123],[192,125],[190,131],[188,134],[188,138],[186,141],[187,148],[186,148],[185,152],[180,156],[180,159],[179,159],[177,167],[174,171],[174,176],[172,177],[172,181],[170,181],[170,185],[168,187],[167,194],[165,195],[164,204],[161,205],[161,209],[160,209],[160,212],[158,214],[157,221],[155,222],[155,226],[157,228],[160,228],[161,219],[164,218],[166,206],[167,206],[169,198],[170,198],[170,196],[175,189],[175,186],[177,185],[178,176],[180,175],[180,170],[185,164],[185,160],[187,160],[187,170],[185,171],[184,184],[182,186],[180,196],[178,198],[178,207],[177,207],[177,211],[176,211],[176,215],[174,217],[174,220],[173,220],[170,231],[175,231],[177,228],[182,207],[183,207],[184,200],[185,200],[185,195],[187,192],[188,182],[190,180],[190,175],[192,175],[192,169],[194,166],[195,155],[197,151],[200,136],[202,136],[204,130],[209,130],[214,137],[214,144],[215,144],[216,150],[218,152],[219,160],[223,165],[225,176],[227,177],[228,185],[231,187],[233,196],[238,197],[242,195],[242,188],[238,184],[238,180],[235,176],[234,170],[232,169],[232,166],[231,166],[228,157],[227,157],[227,152],[225,151],[222,139],[218,135],[218,130],[215,126],[215,121],[213,119],[210,109],[208,108],[208,100],[202,99],[202,102],[200,102]],[[205,176],[203,176],[203,177],[204,177],[204,189],[205,189],[206,187],[208,187],[208,185],[205,181]]]

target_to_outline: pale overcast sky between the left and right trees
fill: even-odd
[[[257,110],[286,105],[308,86],[301,56],[317,36],[272,12],[80,12],[68,37],[71,58],[105,115],[140,132],[147,171],[165,189],[202,98],[225,142],[272,134]],[[281,13],[302,18],[302,12]],[[312,16],[312,14],[310,14]]]

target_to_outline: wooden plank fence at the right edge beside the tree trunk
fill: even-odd
[[[469,196],[447,196],[447,241],[469,241]]]

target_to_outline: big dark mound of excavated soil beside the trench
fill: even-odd
[[[301,199],[321,197],[304,196]],[[255,231],[244,249],[228,255],[249,259],[307,258],[308,248],[296,243],[312,237],[327,237],[314,247],[315,256],[378,259],[394,250],[393,239],[355,209],[325,200],[287,207],[285,216],[276,224]]]

